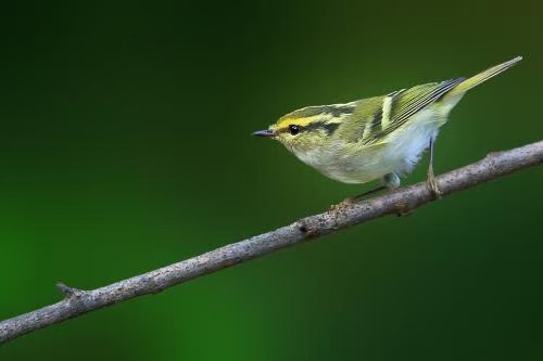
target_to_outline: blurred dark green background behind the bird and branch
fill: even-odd
[[[18,2],[1,12],[0,319],[370,189],[250,137],[292,109],[519,66],[437,172],[543,138],[535,1]],[[404,183],[425,179],[420,165]],[[543,359],[543,168],[35,332],[4,360]]]

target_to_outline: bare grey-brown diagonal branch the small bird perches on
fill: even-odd
[[[438,177],[442,196],[463,191],[513,171],[543,163],[543,141],[506,152],[491,153],[480,162]],[[401,215],[433,201],[427,183],[402,188],[358,204],[298,220],[251,238],[92,291],[59,289],[64,299],[0,322],[0,344],[84,313],[142,295],[156,294],[174,285],[242,263],[272,252],[313,240],[387,215]]]

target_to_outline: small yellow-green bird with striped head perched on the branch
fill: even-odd
[[[433,146],[451,109],[466,91],[505,72],[517,56],[470,78],[430,82],[344,104],[307,106],[289,113],[253,136],[276,139],[300,160],[344,183],[381,179],[364,193],[400,186],[430,149],[428,185],[440,196]]]

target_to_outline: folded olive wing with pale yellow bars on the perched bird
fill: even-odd
[[[371,137],[366,138],[363,142],[372,144],[382,141],[388,134],[403,126],[413,115],[441,99],[463,80],[464,78],[456,78],[430,82],[386,95],[380,111],[380,127],[374,129]]]

